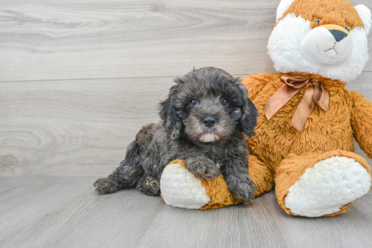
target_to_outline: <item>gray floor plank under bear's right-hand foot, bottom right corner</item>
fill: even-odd
[[[324,218],[289,216],[279,207],[274,195],[271,202],[270,209],[288,247],[371,247],[371,192],[351,204],[348,212]]]

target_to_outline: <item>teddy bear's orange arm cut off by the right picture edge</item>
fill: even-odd
[[[356,91],[352,91],[351,94],[354,137],[361,149],[369,158],[372,158],[372,102]]]

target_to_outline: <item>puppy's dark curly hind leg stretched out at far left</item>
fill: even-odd
[[[107,178],[100,178],[95,181],[93,184],[95,191],[104,194],[135,187],[143,175],[140,156],[140,147],[136,141],[133,141],[129,144],[125,159],[120,163],[120,166]]]

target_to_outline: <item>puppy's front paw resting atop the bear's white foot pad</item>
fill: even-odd
[[[220,175],[216,164],[208,158],[187,159],[185,165],[195,177],[200,179],[212,180]]]

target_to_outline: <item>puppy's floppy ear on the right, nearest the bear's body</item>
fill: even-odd
[[[234,82],[242,93],[243,101],[242,117],[240,118],[239,128],[240,131],[244,131],[248,136],[252,136],[255,134],[253,129],[257,124],[258,111],[251,99],[248,98],[248,89],[240,83],[240,78],[235,78]]]

